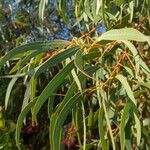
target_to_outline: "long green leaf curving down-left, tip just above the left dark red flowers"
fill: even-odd
[[[45,87],[40,96],[38,97],[35,106],[33,107],[33,120],[36,120],[36,115],[43,106],[44,102],[55,92],[57,88],[64,82],[64,79],[70,74],[73,69],[73,62],[69,63],[64,69],[62,69]]]

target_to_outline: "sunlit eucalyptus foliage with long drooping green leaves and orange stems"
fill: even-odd
[[[5,111],[19,113],[18,149],[25,149],[23,140],[30,136],[32,145],[27,144],[34,149],[150,147],[149,4],[74,0],[75,25],[87,32],[72,40],[23,44],[0,58],[0,69],[8,70],[1,79],[11,78]],[[43,23],[48,5],[47,0],[38,5]],[[67,7],[56,0],[66,23]],[[8,122],[2,115],[0,121]],[[49,141],[40,143],[39,137]]]

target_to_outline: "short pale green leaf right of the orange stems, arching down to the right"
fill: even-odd
[[[132,92],[132,90],[131,90],[131,87],[130,87],[130,85],[129,85],[127,79],[126,79],[123,75],[121,75],[121,74],[118,74],[118,75],[116,76],[116,79],[118,79],[118,80],[121,82],[122,86],[123,86],[124,89],[126,90],[126,93],[127,93],[128,97],[129,97],[129,98],[131,99],[131,101],[136,105],[137,102],[136,102],[136,100],[135,100],[135,98],[134,98],[134,94],[133,94],[133,92]]]

